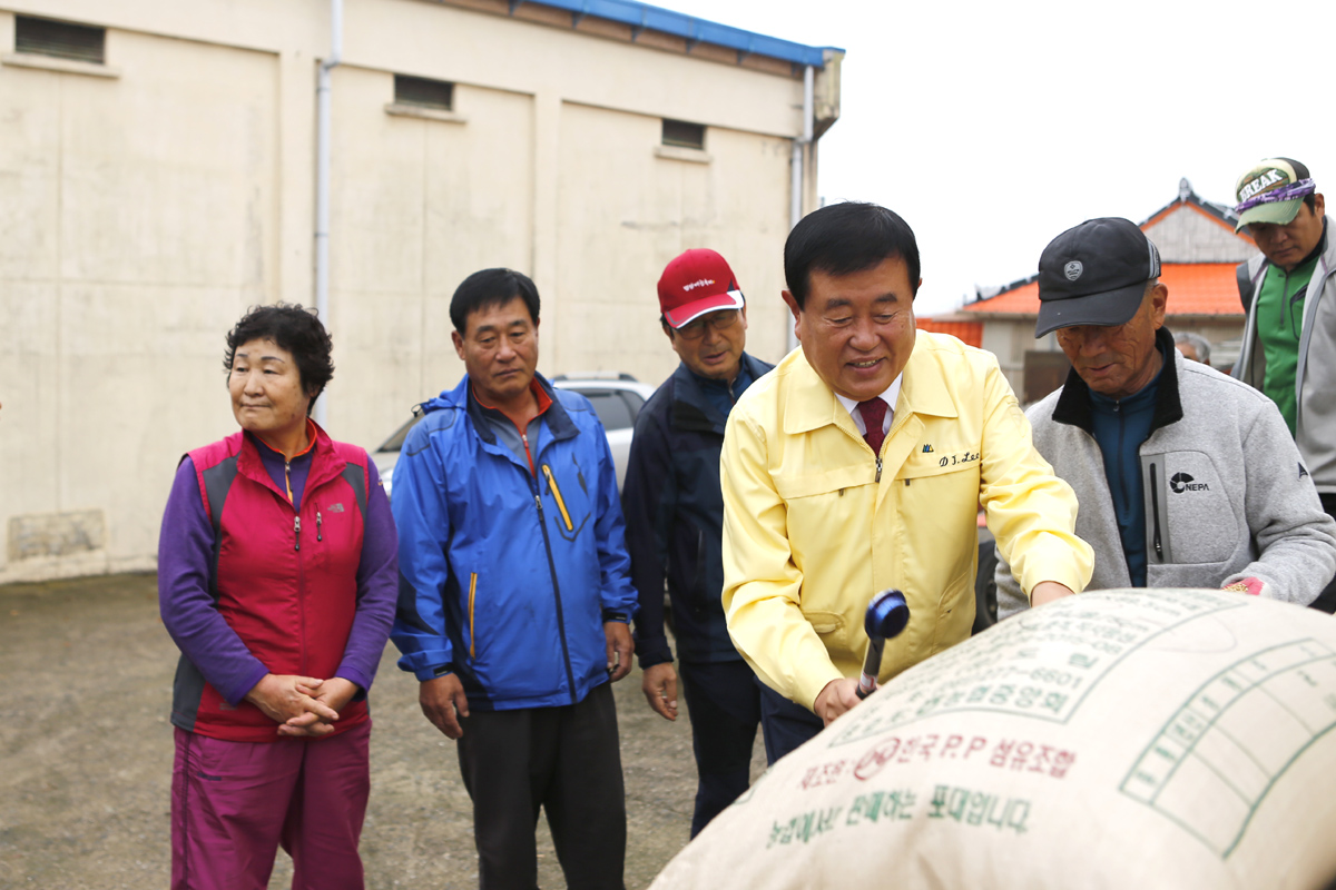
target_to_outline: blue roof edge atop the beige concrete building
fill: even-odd
[[[637,3],[636,0],[520,0],[518,3],[510,0],[512,11],[521,3],[554,7],[577,16],[588,15],[611,19],[636,29],[649,28],[677,37],[685,37],[688,43],[709,43],[736,49],[740,53],[771,56],[800,65],[812,65],[814,68],[823,68],[826,65],[827,49],[844,52],[836,47],[808,47],[791,40],[767,37],[762,33],[721,25],[716,21],[697,19],[661,7],[652,7],[648,3]]]

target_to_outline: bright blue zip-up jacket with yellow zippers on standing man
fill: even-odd
[[[537,476],[497,440],[468,375],[422,404],[394,467],[399,667],[453,670],[470,709],[582,701],[608,681],[604,616],[636,610],[599,415],[534,379],[552,399],[530,442]]]

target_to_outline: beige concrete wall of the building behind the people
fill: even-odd
[[[659,272],[715,247],[778,359],[800,72],[464,5],[346,1],[331,435],[374,447],[458,380],[449,299],[488,266],[537,282],[545,374],[657,382]],[[106,27],[106,64],[16,55],[16,15]],[[0,583],[155,564],[178,458],[235,430],[226,331],[313,303],[327,52],[323,0],[0,0]],[[453,111],[402,113],[395,73],[454,83]],[[661,147],[663,117],[704,151]]]

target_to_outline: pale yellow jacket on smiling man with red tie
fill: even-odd
[[[955,338],[918,332],[880,458],[795,350],[729,414],[720,472],[728,632],[807,709],[858,677],[879,590],[910,606],[883,682],[970,635],[979,503],[1026,594],[1090,580],[1075,495],[1034,450],[997,359]]]

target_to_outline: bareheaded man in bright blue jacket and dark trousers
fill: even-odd
[[[611,681],[631,670],[628,578],[599,416],[538,363],[538,292],[474,272],[450,302],[466,374],[426,402],[394,468],[399,667],[458,739],[481,887],[533,887],[548,814],[572,887],[623,887],[625,794]]]

